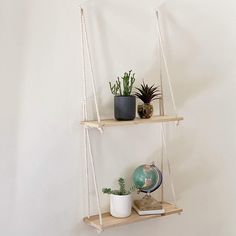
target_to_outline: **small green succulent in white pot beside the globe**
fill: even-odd
[[[119,190],[112,190],[111,188],[103,188],[102,192],[110,195],[110,213],[117,218],[125,218],[131,215],[132,198],[130,190],[126,190],[125,180],[119,178]]]

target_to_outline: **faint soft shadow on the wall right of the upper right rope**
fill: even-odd
[[[208,32],[204,32],[203,28],[200,30],[207,37]],[[177,106],[182,108],[190,99],[222,81],[219,76],[220,68],[216,67],[214,60],[217,59],[200,33],[197,30],[193,33],[191,23],[186,22],[182,15],[168,11],[165,6],[162,13],[162,32]]]

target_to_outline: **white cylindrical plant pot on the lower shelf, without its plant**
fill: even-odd
[[[129,195],[110,195],[110,213],[117,218],[125,218],[131,215],[132,198]]]

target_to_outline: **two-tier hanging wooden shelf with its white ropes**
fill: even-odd
[[[174,190],[174,184],[171,174],[171,166],[170,161],[168,159],[167,155],[167,149],[166,149],[166,135],[165,135],[165,123],[166,122],[176,122],[176,124],[179,124],[179,121],[183,120],[183,117],[180,117],[177,115],[177,108],[176,103],[174,99],[173,89],[171,85],[170,80],[170,73],[167,66],[167,60],[164,53],[164,47],[163,47],[163,38],[161,34],[161,28],[160,28],[160,14],[159,11],[156,10],[156,19],[157,19],[157,33],[158,33],[158,39],[159,39],[159,48],[160,48],[160,88],[161,92],[163,94],[162,89],[162,63],[163,67],[166,72],[168,87],[172,99],[173,108],[175,111],[175,115],[169,116],[164,114],[164,102],[163,102],[163,96],[162,99],[160,99],[160,116],[153,116],[150,119],[139,119],[136,118],[132,121],[116,121],[114,119],[106,119],[102,120],[100,118],[100,112],[99,112],[99,106],[98,106],[98,100],[96,96],[96,89],[95,89],[95,76],[94,76],[94,70],[92,66],[92,56],[91,56],[91,50],[88,40],[88,33],[87,33],[87,24],[86,24],[86,18],[84,14],[84,9],[80,8],[80,19],[81,19],[81,46],[82,46],[82,63],[83,63],[83,121],[81,124],[84,126],[84,163],[85,163],[85,185],[86,185],[86,199],[87,199],[87,217],[84,218],[84,222],[92,227],[94,227],[97,232],[101,232],[104,229],[113,227],[113,226],[119,226],[119,225],[125,225],[130,224],[133,222],[143,221],[147,219],[162,217],[170,214],[176,214],[181,213],[182,209],[176,207],[176,197],[175,197],[175,190]],[[97,120],[88,120],[88,111],[87,111],[87,75],[86,75],[86,60],[85,55],[87,54],[88,59],[88,69],[90,71],[90,80],[92,83],[92,91],[93,91],[93,97],[94,97],[94,104],[96,109],[96,116]],[[147,215],[147,216],[140,216],[135,211],[132,211],[131,216],[128,218],[114,218],[110,215],[110,213],[103,213],[101,212],[101,204],[100,204],[100,197],[99,197],[99,191],[98,191],[98,184],[97,184],[97,178],[96,178],[96,170],[95,170],[95,164],[94,164],[94,157],[92,153],[92,145],[90,141],[90,128],[98,129],[101,133],[103,132],[103,128],[105,127],[113,127],[113,126],[124,126],[124,125],[139,125],[139,124],[149,124],[149,123],[160,123],[161,129],[160,129],[160,137],[161,137],[161,146],[162,146],[162,155],[161,155],[161,171],[163,173],[164,167],[164,158],[167,160],[167,169],[168,174],[170,177],[170,184],[171,184],[171,191],[173,195],[174,204],[168,203],[164,201],[164,187],[162,184],[161,187],[161,203],[163,208],[165,209],[165,213],[161,215]],[[94,184],[95,194],[96,194],[96,202],[97,202],[97,210],[98,215],[91,216],[91,210],[90,210],[90,186],[89,186],[89,171],[88,167],[89,164],[91,166],[91,172],[92,172],[92,180]]]

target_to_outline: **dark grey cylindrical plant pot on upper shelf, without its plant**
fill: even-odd
[[[136,114],[135,96],[115,96],[114,115],[116,120],[133,120]]]

